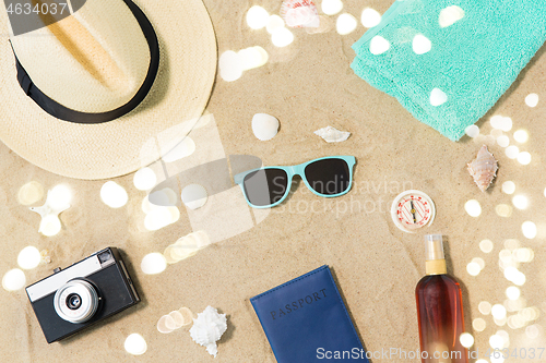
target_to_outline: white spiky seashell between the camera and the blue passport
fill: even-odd
[[[206,347],[209,354],[216,356],[218,353],[216,341],[226,330],[226,314],[218,314],[216,308],[206,306],[202,313],[198,314],[198,318],[193,319],[190,336],[194,342]]]

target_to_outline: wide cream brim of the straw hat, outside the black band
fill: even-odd
[[[157,77],[130,113],[100,124],[58,120],[28,98],[16,80],[9,22],[0,11],[0,140],[27,161],[75,179],[123,176],[174,148],[202,114],[216,75],[217,48],[201,0],[133,0],[159,41]]]

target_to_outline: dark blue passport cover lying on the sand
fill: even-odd
[[[328,266],[250,302],[278,363],[368,362]]]

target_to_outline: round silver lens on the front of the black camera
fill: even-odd
[[[83,279],[74,279],[57,290],[54,307],[62,319],[72,324],[81,324],[95,315],[98,302],[98,292],[92,283]]]

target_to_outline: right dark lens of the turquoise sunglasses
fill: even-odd
[[[335,195],[349,187],[351,171],[343,159],[323,159],[309,164],[305,169],[309,185],[319,194]]]

